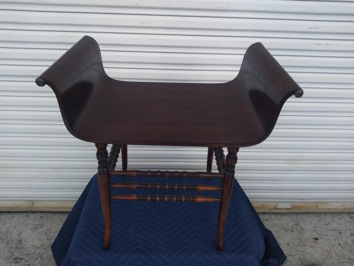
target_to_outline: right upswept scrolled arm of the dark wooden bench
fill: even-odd
[[[254,121],[258,118],[258,122],[254,124],[260,124],[258,137],[254,137],[253,143],[249,143],[251,145],[258,144],[269,136],[282,106],[290,96],[299,98],[303,95],[300,86],[262,43],[254,43],[247,49],[240,72],[232,82],[237,89],[248,95],[249,105],[253,106],[256,114]]]

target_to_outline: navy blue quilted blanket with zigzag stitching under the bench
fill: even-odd
[[[167,182],[172,178],[167,178]],[[284,253],[264,260],[262,230],[250,210],[244,193],[235,182],[224,232],[224,251],[217,251],[216,226],[219,203],[173,203],[112,200],[112,235],[109,250],[102,249],[103,217],[97,174],[92,178],[76,225],[64,223],[52,245],[53,256],[60,240],[70,243],[59,266],[275,266],[285,260]],[[144,177],[112,178],[112,182],[146,182]],[[149,178],[158,183],[158,178]],[[220,185],[218,179],[176,179],[173,183]],[[219,197],[220,192],[175,190],[129,190],[112,188],[112,194],[201,195]],[[69,216],[70,216],[69,215]],[[77,216],[80,216],[77,222]],[[73,232],[74,231],[74,232]],[[275,243],[278,245],[277,243]],[[272,245],[275,245],[272,243]],[[64,244],[63,244],[64,245]],[[280,249],[280,248],[279,248]],[[280,250],[281,251],[281,250]]]

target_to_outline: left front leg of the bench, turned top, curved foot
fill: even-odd
[[[107,144],[95,143],[98,160],[98,184],[101,195],[102,214],[104,222],[103,249],[109,248],[109,240],[112,232],[112,210],[110,201],[110,176],[108,174],[108,151]]]

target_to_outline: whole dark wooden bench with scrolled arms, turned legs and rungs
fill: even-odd
[[[53,89],[68,131],[97,147],[104,249],[109,248],[112,227],[110,202],[118,199],[220,201],[217,245],[222,250],[236,153],[240,147],[265,140],[285,101],[292,95],[303,95],[303,90],[261,43],[247,49],[239,74],[229,82],[129,82],[107,76],[97,42],[84,36],[42,73],[36,84]],[[109,154],[108,144],[113,144]],[[127,144],[209,147],[207,172],[126,170]],[[226,158],[222,147],[227,147]],[[123,170],[115,171],[121,150]],[[211,173],[213,153],[218,173]],[[221,178],[222,186],[111,184],[113,175]],[[219,190],[221,197],[110,195],[110,187]]]

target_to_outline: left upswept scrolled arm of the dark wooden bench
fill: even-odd
[[[72,128],[91,94],[106,76],[96,40],[84,36],[36,78],[36,84],[52,88],[65,126],[78,137]]]

